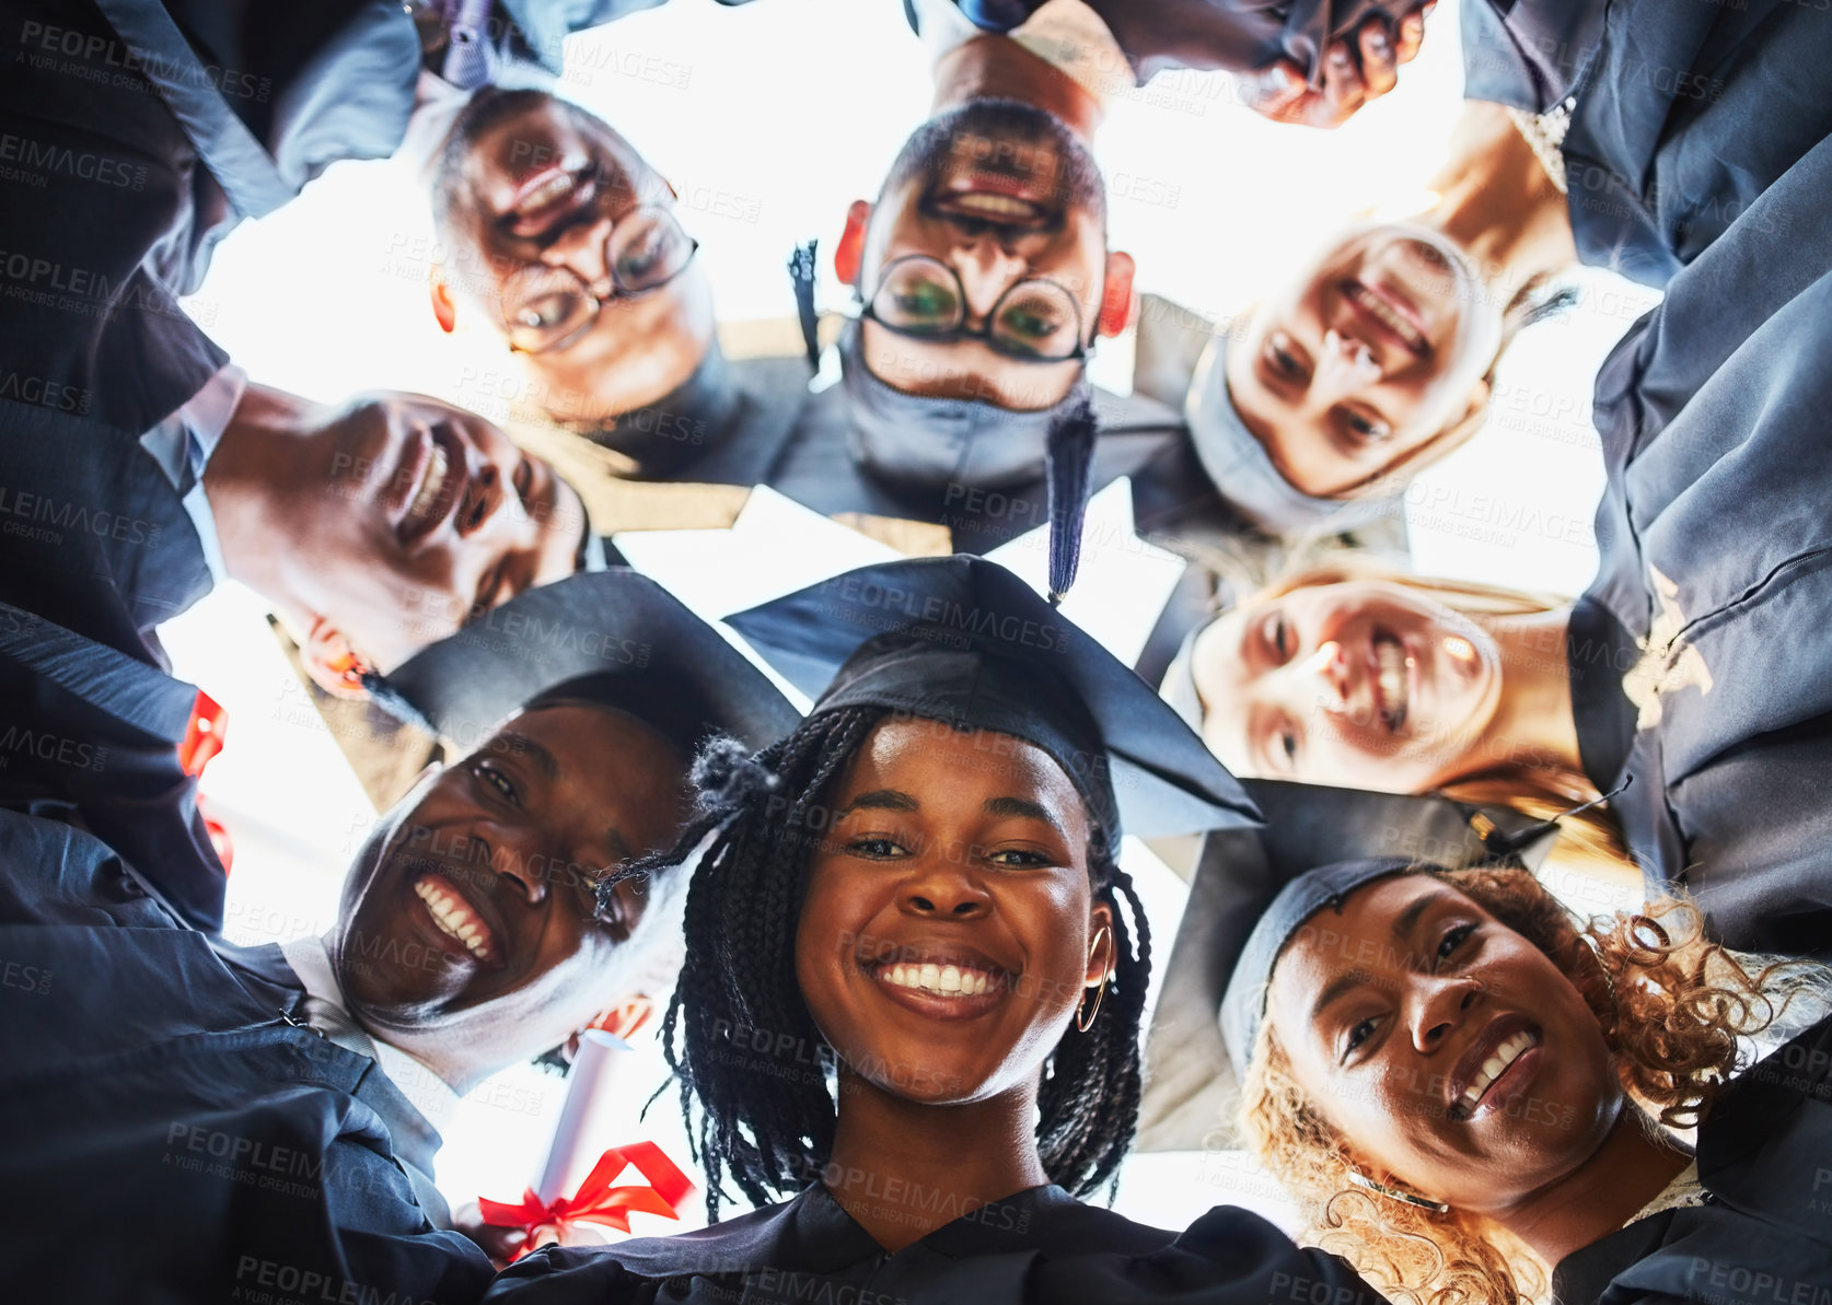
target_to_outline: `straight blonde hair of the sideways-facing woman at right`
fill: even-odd
[[[1282,599],[1297,589],[1326,584],[1392,584],[1411,589],[1466,617],[1528,617],[1570,608],[1568,599],[1550,593],[1506,589],[1478,580],[1440,580],[1412,575],[1369,553],[1334,549],[1295,562],[1240,606]],[[1533,820],[1550,820],[1572,807],[1596,802],[1603,794],[1581,769],[1511,761],[1491,765],[1440,785],[1438,794],[1478,807],[1508,807]],[[1610,882],[1640,877],[1616,818],[1601,807],[1561,822],[1561,862],[1581,873]]]

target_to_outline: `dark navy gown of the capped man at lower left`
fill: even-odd
[[[0,1298],[474,1301],[409,1166],[438,1133],[101,840],[0,811]]]

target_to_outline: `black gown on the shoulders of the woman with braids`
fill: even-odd
[[[491,1305],[1379,1305],[1350,1268],[1246,1210],[1216,1206],[1178,1235],[1055,1186],[995,1201],[896,1254],[826,1188],[678,1237],[608,1250],[550,1246],[504,1270]]]

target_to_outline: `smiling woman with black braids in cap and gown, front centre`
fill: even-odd
[[[799,1195],[546,1248],[491,1300],[1264,1305],[1306,1283],[1374,1305],[1248,1212],[1176,1235],[1077,1201],[1112,1184],[1140,1100],[1150,946],[1121,814],[1253,814],[1143,681],[978,558],[731,624],[824,692],[753,761],[702,758],[687,838],[711,842],[665,1030],[714,1217],[725,1179]]]

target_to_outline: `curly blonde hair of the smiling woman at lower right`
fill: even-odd
[[[1706,941],[1685,901],[1583,921],[1524,869],[1411,873],[1456,888],[1559,966],[1596,1016],[1610,1063],[1649,1127],[1654,1120],[1695,1127],[1744,1067],[1742,1040],[1773,1025],[1795,996],[1827,994],[1823,966],[1746,957]],[[1306,1235],[1389,1298],[1500,1305],[1546,1294],[1544,1263],[1500,1226],[1354,1186],[1347,1138],[1312,1107],[1270,1019],[1242,1085],[1240,1124],[1248,1148],[1303,1208]],[[1405,1186],[1396,1175],[1369,1177]]]

